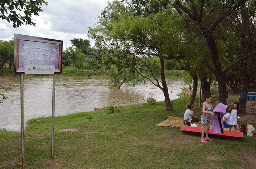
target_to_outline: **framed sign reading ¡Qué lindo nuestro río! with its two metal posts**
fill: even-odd
[[[55,83],[56,75],[61,74],[63,41],[42,37],[14,34],[14,73],[21,74],[21,157],[25,168],[24,148],[24,85],[23,74],[53,74],[52,85],[52,145],[54,144]]]

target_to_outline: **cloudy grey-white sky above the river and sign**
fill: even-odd
[[[9,41],[14,34],[38,36],[49,39],[63,40],[63,49],[71,46],[70,40],[75,38],[88,39],[91,46],[94,41],[87,37],[88,27],[97,22],[105,3],[108,0],[45,0],[43,12],[33,16],[36,26],[22,25],[13,28],[12,23],[0,20],[0,39]],[[110,0],[111,1],[111,0]]]

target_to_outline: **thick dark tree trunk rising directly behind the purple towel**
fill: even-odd
[[[221,64],[220,64],[220,58],[218,56],[218,50],[216,48],[216,44],[214,41],[213,35],[205,35],[210,52],[211,52],[211,58],[214,65],[214,75],[218,81],[219,84],[219,99],[220,103],[227,104],[227,98],[226,98],[226,82],[224,74],[221,70]]]

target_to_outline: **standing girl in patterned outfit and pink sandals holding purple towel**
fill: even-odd
[[[203,103],[203,114],[201,116],[201,124],[203,124],[203,130],[201,134],[201,142],[207,143],[207,141],[212,141],[211,138],[209,138],[208,133],[210,129],[210,115],[214,116],[213,114],[213,107],[212,107],[212,96],[211,94],[206,95],[205,102]],[[204,139],[204,132],[206,131],[205,139]]]

